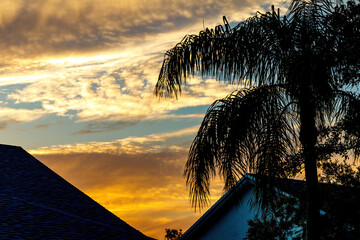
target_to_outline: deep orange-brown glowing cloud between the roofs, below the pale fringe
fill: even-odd
[[[200,215],[182,176],[187,152],[46,154],[40,161],[145,234],[187,229]]]

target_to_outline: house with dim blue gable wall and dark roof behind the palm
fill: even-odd
[[[305,202],[306,182],[295,179],[274,179],[278,193]],[[248,220],[254,219],[260,208],[255,203],[256,175],[245,174],[208,211],[206,211],[180,240],[233,240],[246,237]],[[360,188],[336,184],[319,184],[321,214],[329,216],[333,224],[350,239],[360,239]],[[323,219],[324,220],[324,219]],[[329,222],[323,222],[329,224]],[[332,226],[332,225],[328,225]],[[326,227],[326,226],[325,226]],[[294,230],[299,230],[297,228]],[[338,231],[340,232],[340,230]],[[333,229],[330,229],[333,230]],[[331,233],[331,232],[330,232]],[[349,239],[342,238],[331,239]]]

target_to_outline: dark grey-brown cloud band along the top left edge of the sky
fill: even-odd
[[[2,19],[0,46],[21,57],[108,49],[219,18],[247,1],[23,1]],[[5,11],[6,9],[2,9]],[[199,26],[201,28],[201,26]],[[135,39],[134,39],[135,37]]]

